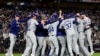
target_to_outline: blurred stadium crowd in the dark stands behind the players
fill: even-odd
[[[1,8],[0,9],[0,52],[5,52],[6,49],[9,47],[9,38],[6,33],[9,33],[9,24],[10,21],[14,18],[15,13],[20,14],[20,18],[24,18],[30,15],[35,10],[13,10],[13,9],[7,9],[7,8]],[[48,17],[55,11],[58,11],[56,9],[46,9],[46,10],[41,10],[42,14],[46,14]],[[70,9],[64,9],[64,13],[76,13],[80,12],[82,10],[70,10]],[[84,10],[87,12],[87,16],[89,16],[92,20],[92,29],[93,29],[93,34],[92,34],[92,39],[94,45],[100,45],[100,10]],[[41,14],[41,15],[42,15]],[[43,17],[43,16],[42,16]],[[23,47],[25,46],[25,39],[24,39],[24,32],[25,32],[25,23],[22,23],[21,26],[21,31],[19,32],[19,36],[16,41],[15,45],[15,51],[17,52],[22,52]]]

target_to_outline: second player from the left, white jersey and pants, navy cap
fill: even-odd
[[[38,22],[36,21],[36,15],[32,14],[31,19],[27,22],[27,32],[26,32],[26,40],[28,42],[28,46],[26,48],[25,53],[22,56],[27,56],[32,48],[31,56],[36,56],[35,51],[37,47],[37,41],[35,36],[36,25]]]

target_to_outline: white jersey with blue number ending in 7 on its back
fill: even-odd
[[[75,28],[74,28],[74,24],[73,24],[74,20],[75,20],[75,18],[70,18],[70,19],[63,20],[62,23],[60,24],[59,28],[63,27],[68,34],[75,33]]]

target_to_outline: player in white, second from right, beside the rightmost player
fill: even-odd
[[[80,14],[77,14],[78,18],[78,36],[79,36],[79,46],[80,46],[80,55],[90,56],[88,49],[85,47],[85,34],[84,34],[84,24],[83,19],[80,18]],[[84,54],[83,54],[84,53]]]

